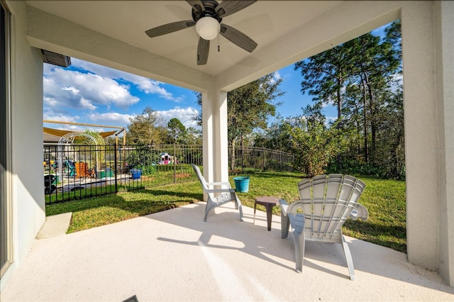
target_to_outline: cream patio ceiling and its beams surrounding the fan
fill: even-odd
[[[207,64],[198,66],[194,26],[155,38],[145,34],[156,26],[191,20],[187,1],[27,4],[33,46],[198,91],[206,89],[209,79],[216,79],[217,89],[235,89],[399,17],[389,6],[378,18],[376,9],[370,16],[355,14],[358,5],[365,5],[357,1],[257,1],[222,23],[245,33],[258,47],[250,53],[220,35],[211,40]],[[73,40],[81,35],[87,40]]]

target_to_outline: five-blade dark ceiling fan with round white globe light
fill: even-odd
[[[192,6],[192,20],[177,21],[146,30],[145,33],[154,38],[177,30],[196,27],[199,34],[199,46],[197,47],[197,65],[205,65],[208,60],[210,40],[216,38],[218,33],[231,41],[231,43],[253,52],[257,43],[240,30],[221,23],[222,18],[230,16],[237,11],[245,9],[257,0],[223,0],[219,4],[215,0],[186,0]]]

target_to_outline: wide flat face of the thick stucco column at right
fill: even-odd
[[[409,262],[438,269],[439,175],[434,3],[402,8],[406,164],[406,238]],[[424,38],[421,38],[424,37]]]

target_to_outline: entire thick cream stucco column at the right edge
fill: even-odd
[[[454,286],[454,4],[402,7],[409,262]],[[421,38],[424,37],[424,38]]]

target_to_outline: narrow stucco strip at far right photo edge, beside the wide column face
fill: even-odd
[[[454,287],[454,3],[436,2],[436,94],[440,138],[438,272]]]

